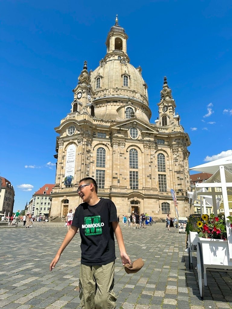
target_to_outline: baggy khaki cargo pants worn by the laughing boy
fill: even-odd
[[[115,309],[114,264],[86,266],[80,269],[80,307],[82,309]]]

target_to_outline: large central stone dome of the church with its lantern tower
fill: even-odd
[[[135,68],[129,63],[127,39],[116,18],[106,39],[107,53],[99,66],[90,72],[90,84],[95,93],[95,117],[121,121],[129,108],[138,119],[149,123],[147,85],[141,67]]]

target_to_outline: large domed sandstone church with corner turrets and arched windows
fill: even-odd
[[[99,197],[110,198],[118,214],[147,213],[153,218],[190,213],[188,134],[175,114],[175,100],[164,78],[158,118],[150,123],[147,85],[141,67],[130,64],[128,36],[115,25],[108,33],[107,53],[94,71],[85,61],[73,90],[71,112],[55,128],[57,170],[51,217],[66,216],[82,200],[79,180],[95,178]]]

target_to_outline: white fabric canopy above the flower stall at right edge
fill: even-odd
[[[225,170],[232,173],[232,155],[226,158],[221,158],[215,161],[211,161],[205,164],[197,165],[194,167],[189,168],[189,171],[199,171],[205,173],[214,174],[219,169],[219,166],[223,165]]]

